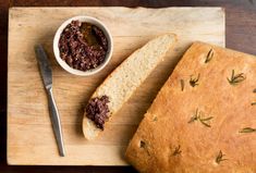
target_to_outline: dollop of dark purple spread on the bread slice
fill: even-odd
[[[95,97],[89,100],[85,109],[86,116],[94,121],[95,125],[101,129],[103,129],[103,124],[109,119],[108,102],[108,96]]]

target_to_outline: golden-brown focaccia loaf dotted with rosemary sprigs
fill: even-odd
[[[125,157],[142,173],[256,173],[256,57],[193,44]]]

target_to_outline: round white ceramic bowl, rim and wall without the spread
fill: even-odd
[[[59,46],[58,46],[59,40],[60,40],[60,35],[62,34],[62,32],[66,27],[66,25],[69,25],[72,21],[75,21],[75,20],[78,20],[80,22],[87,22],[87,23],[90,23],[93,25],[98,26],[103,32],[103,34],[108,40],[108,51],[107,51],[105,61],[99,66],[97,66],[95,69],[90,69],[87,71],[75,70],[75,69],[71,67],[65,61],[63,61],[60,57],[60,50],[59,50]],[[89,76],[89,75],[98,73],[108,64],[109,60],[112,57],[112,51],[113,51],[113,41],[112,41],[112,36],[111,36],[109,29],[107,28],[107,26],[102,22],[100,22],[99,20],[92,17],[92,16],[80,15],[80,16],[74,16],[74,17],[66,20],[64,23],[61,24],[61,26],[56,32],[54,39],[53,39],[53,52],[54,52],[54,57],[56,57],[57,62],[66,72],[75,74],[75,75]]]

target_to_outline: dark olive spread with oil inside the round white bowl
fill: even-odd
[[[59,40],[60,57],[71,67],[88,71],[99,66],[108,51],[108,40],[96,25],[72,21]]]

